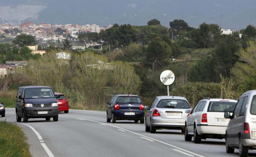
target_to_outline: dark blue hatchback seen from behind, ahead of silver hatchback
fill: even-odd
[[[116,123],[117,120],[134,120],[144,123],[144,105],[137,95],[114,95],[111,102],[106,102],[107,122]]]

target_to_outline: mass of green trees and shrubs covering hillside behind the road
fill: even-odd
[[[4,78],[8,83],[0,83],[0,99],[7,103],[13,100],[5,100],[13,85],[49,85],[67,96],[71,108],[104,110],[105,101],[121,93],[139,94],[144,105],[150,105],[155,96],[167,94],[159,81],[167,69],[176,76],[171,94],[187,97],[192,106],[203,97],[237,99],[256,88],[256,28],[251,25],[225,35],[216,24],[193,28],[184,20],[170,21],[169,27],[157,19],[146,26],[114,24],[99,34],[79,34],[82,45],[100,46],[71,50],[65,39],[61,46],[41,47],[45,56],[32,55],[25,45],[34,40],[24,38],[14,40],[20,43],[16,48],[0,44],[0,55],[6,55],[2,63],[13,60],[17,49],[27,60],[24,68]],[[57,59],[57,52],[67,52],[71,59]]]

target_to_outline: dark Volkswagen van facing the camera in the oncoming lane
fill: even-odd
[[[16,120],[26,123],[29,118],[53,117],[58,121],[59,108],[52,87],[24,86],[19,87],[16,96]]]

